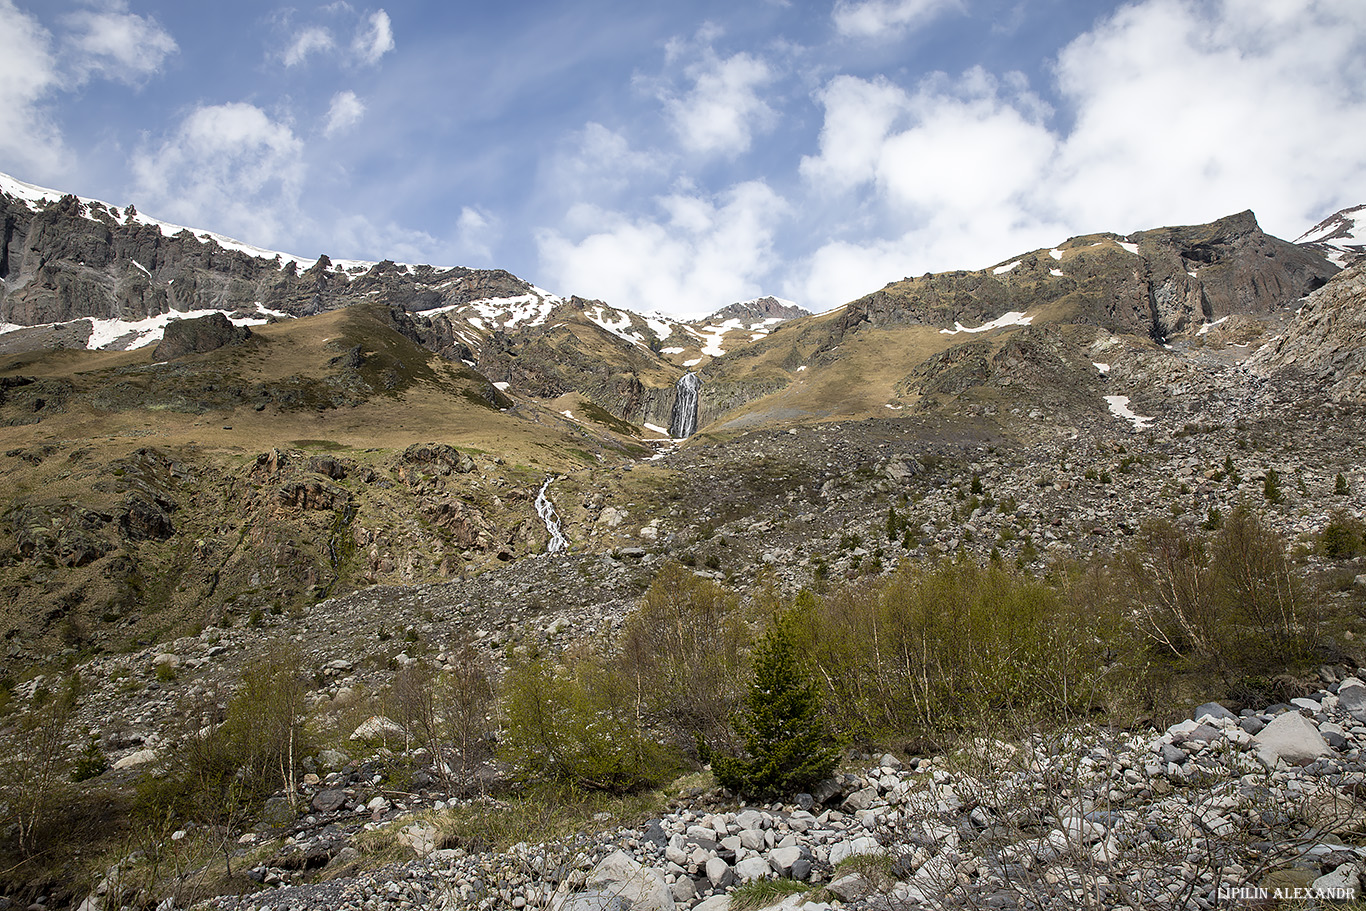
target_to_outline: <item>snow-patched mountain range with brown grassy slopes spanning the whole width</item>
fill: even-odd
[[[829,313],[761,298],[684,322],[0,178],[0,628],[33,658],[471,576],[544,550],[552,477],[571,553],[720,559],[716,527],[743,519],[729,572],[799,586],[926,464],[1015,452],[1052,477],[1079,440],[1169,459],[1188,428],[1246,445],[1311,425],[1309,403],[1359,414],[1363,212],[1296,242],[1251,212],[1083,235]],[[1350,423],[1314,433],[1292,470],[1361,473]],[[908,553],[985,544],[925,526]]]

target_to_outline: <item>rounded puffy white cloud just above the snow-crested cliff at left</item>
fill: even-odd
[[[131,164],[139,208],[158,217],[268,247],[298,236],[303,142],[254,105],[195,108]]]

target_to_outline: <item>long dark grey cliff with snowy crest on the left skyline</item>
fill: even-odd
[[[74,195],[0,187],[0,321],[142,320],[169,311],[309,316],[376,296],[406,310],[526,294],[500,269],[288,260]]]

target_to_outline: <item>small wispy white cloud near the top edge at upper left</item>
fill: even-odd
[[[71,12],[61,23],[68,29],[63,44],[78,79],[97,74],[135,86],[179,51],[156,19],[128,12],[126,0]]]

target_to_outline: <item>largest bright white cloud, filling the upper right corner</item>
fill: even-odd
[[[1059,57],[1076,107],[1059,205],[1090,225],[1244,208],[1295,236],[1366,198],[1366,19],[1354,0],[1149,0]]]

